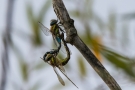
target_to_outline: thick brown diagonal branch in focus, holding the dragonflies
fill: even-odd
[[[109,72],[104,68],[104,66],[77,35],[76,28],[74,27],[74,20],[70,18],[63,1],[53,0],[53,8],[61,24],[66,30],[66,41],[74,45],[81,52],[84,58],[111,90],[122,90],[114,78],[109,74]]]

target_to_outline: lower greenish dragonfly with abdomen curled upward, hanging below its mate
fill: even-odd
[[[61,78],[61,76],[59,75],[59,73],[57,72],[57,68],[63,73],[63,75],[69,80],[71,81],[68,76],[65,73],[65,69],[64,69],[64,65],[66,65],[68,63],[68,61],[70,60],[70,51],[69,48],[66,44],[66,42],[64,41],[64,38],[62,38],[63,44],[65,46],[66,52],[67,52],[67,57],[65,59],[59,60],[57,58],[57,51],[55,49],[52,49],[51,51],[48,51],[44,54],[43,58],[41,58],[42,60],[44,60],[46,63],[48,63],[49,65],[51,65],[54,69],[54,72],[56,73],[58,80],[60,81],[60,83],[65,86],[65,83],[63,81],[63,79]],[[72,82],[72,81],[71,81]],[[73,82],[72,82],[73,83]],[[74,84],[74,83],[73,83]],[[74,84],[75,85],[75,84]],[[76,85],[75,85],[76,86]],[[77,87],[77,86],[76,86]],[[77,87],[78,88],[78,87]]]

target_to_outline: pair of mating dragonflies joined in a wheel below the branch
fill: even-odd
[[[60,81],[60,83],[62,85],[65,85],[63,79],[61,78],[61,76],[59,75],[57,68],[63,73],[63,75],[65,77],[67,77],[67,79],[69,81],[71,81],[68,76],[65,73],[65,69],[64,69],[64,65],[67,64],[67,62],[70,59],[70,50],[64,40],[64,31],[61,29],[60,27],[60,23],[58,23],[58,20],[52,19],[50,22],[50,26],[51,28],[48,29],[47,27],[45,27],[42,23],[39,22],[39,26],[41,28],[41,30],[43,31],[43,33],[45,35],[52,35],[53,40],[56,44],[56,46],[58,47],[58,49],[53,49],[51,51],[48,51],[45,53],[45,55],[43,56],[43,59],[45,62],[47,62],[49,65],[51,65],[54,69],[54,72],[56,73],[58,80]],[[63,44],[62,44],[62,42]],[[67,53],[67,57],[65,59],[59,60],[56,56],[59,52],[59,50],[61,49],[61,46],[64,46],[66,49],[66,53]],[[72,81],[71,81],[72,82]],[[73,82],[72,82],[73,83]],[[74,83],[73,83],[74,84]],[[75,85],[75,84],[74,84]],[[75,85],[76,86],[76,85]],[[76,86],[77,87],[77,86]],[[77,87],[78,88],[78,87]]]

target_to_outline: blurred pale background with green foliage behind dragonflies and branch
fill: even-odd
[[[134,90],[135,1],[63,1],[81,39],[122,90]],[[63,75],[62,86],[52,67],[40,59],[56,48],[38,26],[40,21],[49,28],[50,20],[57,19],[52,0],[0,2],[0,90],[78,90]],[[68,46],[72,55],[65,69],[79,90],[109,90],[79,51]],[[60,52],[59,58],[65,56]]]

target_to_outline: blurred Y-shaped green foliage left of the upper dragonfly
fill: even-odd
[[[37,45],[41,45],[41,37],[40,37],[40,28],[38,26],[38,22],[42,22],[44,20],[44,17],[46,15],[47,10],[49,9],[51,5],[51,1],[47,0],[45,2],[45,4],[43,5],[43,7],[41,8],[41,10],[39,10],[39,14],[35,16],[34,14],[34,10],[32,8],[32,5],[30,3],[27,4],[26,6],[26,10],[27,10],[27,16],[28,16],[28,20],[29,20],[29,24],[31,26],[31,30],[33,32],[33,45],[37,46]]]

